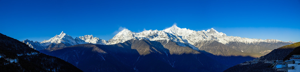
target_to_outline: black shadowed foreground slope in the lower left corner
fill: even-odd
[[[0,33],[0,71],[81,71],[57,57],[30,48],[19,40]]]

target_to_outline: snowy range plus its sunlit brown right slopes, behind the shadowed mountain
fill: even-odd
[[[67,47],[86,43],[112,45],[117,43],[123,43],[127,40],[131,40],[134,38],[146,39],[151,41],[170,40],[176,42],[180,46],[187,46],[195,50],[204,50],[214,55],[222,56],[230,56],[231,54],[211,52],[211,50],[207,48],[207,45],[209,45],[210,43],[217,42],[217,44],[220,44],[220,46],[223,46],[223,48],[228,47],[230,49],[233,49],[234,51],[245,53],[259,53],[265,55],[273,49],[295,43],[292,41],[283,42],[274,39],[262,40],[226,36],[226,34],[222,32],[217,32],[213,28],[208,29],[206,31],[194,31],[186,28],[182,29],[177,27],[176,25],[161,31],[146,30],[140,33],[131,32],[128,29],[124,29],[108,41],[101,40],[98,37],[93,37],[93,35],[84,35],[73,39],[73,37],[71,37],[70,35],[61,32],[60,35],[56,35],[51,39],[44,40],[42,42],[33,42],[30,40],[24,40],[22,42],[26,43],[27,45],[29,45],[29,47],[34,48],[36,50],[42,50],[49,47]]]

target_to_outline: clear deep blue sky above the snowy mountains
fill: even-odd
[[[214,28],[228,36],[300,41],[299,0],[0,0],[0,33],[49,40],[61,31],[73,38],[109,40],[119,27],[133,32]]]

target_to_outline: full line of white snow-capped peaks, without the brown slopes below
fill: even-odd
[[[81,37],[76,37],[73,39],[70,35],[61,32],[60,35],[56,35],[49,40],[44,40],[42,42],[33,42],[30,40],[24,40],[23,43],[26,43],[31,48],[35,48],[36,50],[45,49],[46,46],[50,45],[51,43],[58,44],[70,44],[70,45],[77,45],[77,44],[85,44],[85,43],[93,43],[93,44],[102,44],[102,45],[111,45],[116,43],[123,43],[127,40],[131,40],[133,38],[137,39],[146,39],[151,41],[157,40],[171,40],[173,42],[179,43],[181,46],[189,45],[190,47],[194,48],[194,44],[197,42],[208,41],[208,40],[215,40],[217,42],[226,44],[229,42],[241,42],[246,44],[256,44],[260,42],[266,43],[278,43],[283,42],[280,40],[274,39],[250,39],[250,38],[242,38],[242,37],[233,37],[227,36],[222,32],[217,32],[213,28],[208,30],[202,31],[194,31],[186,28],[179,28],[176,25],[173,25],[170,28],[164,30],[146,30],[140,33],[131,32],[128,29],[124,29],[118,34],[116,34],[112,39],[106,41],[101,40],[98,37],[93,37],[93,35],[84,35]],[[182,43],[182,44],[180,44]],[[283,42],[283,43],[296,43],[296,42]],[[194,48],[197,49],[197,48]]]

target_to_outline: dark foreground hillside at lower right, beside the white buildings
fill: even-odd
[[[247,61],[235,65],[226,69],[224,72],[277,71],[276,69],[271,68],[273,61],[287,60],[291,55],[294,54],[300,54],[300,42],[274,49],[265,56],[259,57],[253,61]]]

